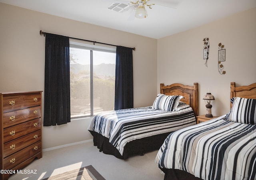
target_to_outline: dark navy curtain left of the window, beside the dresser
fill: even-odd
[[[69,38],[46,33],[44,126],[70,122]]]

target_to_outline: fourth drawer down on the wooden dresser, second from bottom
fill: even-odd
[[[41,140],[41,130],[4,144],[4,158]]]

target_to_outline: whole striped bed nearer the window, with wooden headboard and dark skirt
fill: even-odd
[[[168,98],[172,106],[163,103]],[[196,124],[197,115],[198,83],[160,84],[152,106],[99,113],[88,131],[100,152],[127,159],[158,150],[170,132]]]

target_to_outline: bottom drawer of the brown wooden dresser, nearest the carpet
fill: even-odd
[[[36,153],[41,151],[41,141],[14,153],[6,158],[4,158],[4,168],[3,169],[12,169],[14,166],[20,164],[21,162],[25,161],[26,159],[32,157]]]

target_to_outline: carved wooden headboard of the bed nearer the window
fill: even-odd
[[[164,86],[163,83],[160,84],[160,93],[169,96],[181,95],[180,101],[190,105],[194,110],[195,116],[198,116],[198,83],[195,82],[194,86],[183,85],[180,83],[171,84],[169,86]]]

